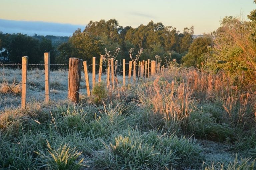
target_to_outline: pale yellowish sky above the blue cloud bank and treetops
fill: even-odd
[[[256,8],[253,0],[1,0],[0,5],[0,19],[85,26],[115,18],[134,28],[153,20],[180,31],[193,25],[196,35],[216,30],[225,16],[246,19]]]

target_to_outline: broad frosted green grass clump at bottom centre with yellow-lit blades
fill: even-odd
[[[123,132],[110,146],[96,152],[95,168],[109,169],[182,169],[202,161],[202,148],[188,138],[158,135],[156,131]],[[200,164],[199,164],[200,165]]]

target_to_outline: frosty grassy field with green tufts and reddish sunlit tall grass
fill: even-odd
[[[22,110],[20,70],[0,69],[0,169],[256,169],[256,94],[245,82],[173,66],[91,97],[82,88],[74,104],[67,71],[50,75],[45,104],[43,72],[28,72]]]

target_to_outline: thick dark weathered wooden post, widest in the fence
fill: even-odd
[[[79,102],[79,88],[81,80],[83,60],[79,58],[69,58],[68,70],[68,99]]]

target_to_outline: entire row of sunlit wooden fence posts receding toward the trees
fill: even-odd
[[[151,67],[150,67],[151,63]],[[123,59],[123,86],[125,86],[125,76],[126,76],[126,68],[125,68],[125,59]],[[27,65],[28,65],[28,57],[22,57],[22,88],[21,88],[21,107],[26,107],[26,85],[27,85]],[[87,95],[91,95],[90,91],[90,82],[89,82],[89,72],[87,61],[83,61],[78,58],[69,58],[69,71],[68,71],[68,99],[73,102],[79,102],[79,89],[80,89],[80,81],[81,81],[81,71],[82,65],[84,66],[84,74],[85,74],[85,83]],[[103,65],[103,55],[100,56],[99,63],[99,79],[98,82],[101,82],[102,75],[102,65]],[[129,69],[128,69],[128,83],[131,82],[131,73],[132,73],[132,65],[133,65],[133,82],[136,82],[136,62],[129,61]],[[95,86],[95,70],[96,70],[96,58],[92,58],[92,88]],[[151,76],[155,76],[155,74],[163,72],[164,66],[162,66],[160,70],[160,63],[156,63],[155,60],[150,61],[149,59],[146,61],[138,62],[138,80],[140,77],[149,78]],[[114,58],[108,60],[107,63],[107,88],[114,89],[114,84],[118,84],[117,81],[117,67],[118,61],[115,61],[115,69],[114,69]],[[44,68],[45,68],[45,102],[48,103],[50,100],[50,53],[44,53]],[[151,69],[150,69],[151,68]],[[111,78],[110,78],[111,72]],[[111,81],[110,81],[111,80]],[[111,84],[111,87],[110,87]]]

